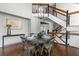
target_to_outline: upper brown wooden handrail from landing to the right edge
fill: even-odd
[[[32,3],[32,5],[49,6],[48,3]],[[66,16],[66,14],[65,14],[66,11],[65,10],[62,10],[62,9],[59,9],[59,8],[56,8],[56,7],[53,7],[53,6],[49,6],[49,8],[52,8],[52,10],[54,9],[55,12]],[[73,14],[77,14],[77,13],[79,13],[79,11],[70,12],[70,13],[68,13],[68,15],[73,15]]]

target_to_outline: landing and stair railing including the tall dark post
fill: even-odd
[[[69,32],[67,31],[67,27],[70,25],[70,14],[69,14],[69,12],[68,12],[68,10],[67,11],[65,11],[65,10],[62,10],[62,9],[59,9],[59,8],[56,8],[56,7],[54,7],[54,6],[49,6],[49,4],[46,4],[46,3],[33,3],[32,4],[32,13],[48,13],[48,16],[49,16],[49,13],[50,14],[52,14],[52,15],[54,15],[54,16],[56,16],[56,17],[58,17],[58,15],[62,15],[62,16],[65,16],[66,17],[66,33],[65,33],[65,35],[66,35],[66,40],[65,40],[65,44],[66,44],[66,46],[68,45],[68,36],[69,36]],[[40,12],[39,10],[40,10],[40,8],[42,9],[42,11]],[[57,29],[54,29],[53,31],[56,31],[56,32],[58,32],[59,30],[61,30],[61,28],[59,27],[59,28],[57,28]],[[51,32],[51,34],[55,34],[55,33],[52,33]],[[57,36],[57,34],[56,34],[56,36]],[[61,36],[62,37],[62,36]],[[60,37],[59,37],[60,38]],[[61,38],[60,38],[60,40],[61,40]]]

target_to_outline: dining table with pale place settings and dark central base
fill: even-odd
[[[23,37],[24,38],[24,37]],[[25,41],[31,43],[32,45],[35,46],[35,52],[36,55],[44,55],[43,52],[46,51],[46,55],[48,55],[48,49],[45,47],[45,44],[49,44],[50,42],[53,42],[54,37],[50,35],[43,35],[41,38],[38,38],[37,36],[28,36],[25,37]]]

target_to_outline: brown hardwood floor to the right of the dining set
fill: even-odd
[[[79,49],[75,47],[62,44],[55,44],[54,46],[54,55],[55,56],[79,56]]]

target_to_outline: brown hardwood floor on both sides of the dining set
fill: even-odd
[[[3,56],[2,48],[0,48],[0,55]],[[22,44],[18,43],[5,47],[4,56],[24,56]],[[79,56],[79,49],[54,43],[54,48],[53,51],[51,51],[51,56]]]

